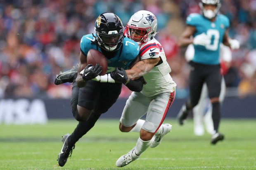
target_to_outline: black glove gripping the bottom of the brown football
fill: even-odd
[[[88,81],[100,75],[101,72],[102,66],[100,66],[99,64],[96,64],[95,66],[93,66],[92,64],[88,64],[84,69],[82,78],[83,80]]]

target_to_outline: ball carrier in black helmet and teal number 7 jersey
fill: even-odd
[[[71,156],[75,143],[94,126],[100,115],[107,112],[116,102],[122,83],[133,91],[141,91],[145,83],[143,77],[129,80],[123,70],[131,68],[140,61],[140,57],[138,44],[123,36],[124,27],[119,17],[113,13],[101,14],[96,20],[95,31],[96,34],[88,34],[81,39],[80,63],[68,72],[60,73],[55,79],[56,85],[73,82],[71,107],[73,116],[79,121],[71,135],[63,136],[62,149],[58,155],[60,166],[64,166],[69,155]],[[90,49],[97,49],[106,56],[108,72],[112,70],[111,75],[119,80],[119,83],[91,80],[102,70],[98,64],[87,64],[86,55]],[[80,74],[82,70],[83,74]],[[117,73],[124,76],[115,77]]]

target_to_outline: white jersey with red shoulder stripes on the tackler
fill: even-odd
[[[147,84],[143,86],[141,93],[145,96],[154,96],[163,92],[175,91],[176,84],[170,75],[171,68],[166,61],[164,49],[155,38],[142,44],[140,56],[142,60],[161,57],[163,61],[143,76]]]

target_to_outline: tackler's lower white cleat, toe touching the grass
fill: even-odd
[[[117,167],[123,167],[125,165],[128,165],[132,161],[135,161],[137,158],[139,158],[140,155],[135,154],[135,147],[128,152],[128,154],[125,154],[121,156],[117,161],[116,161],[116,166]]]

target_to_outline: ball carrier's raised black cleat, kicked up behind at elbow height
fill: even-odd
[[[78,70],[78,64],[73,66],[73,68],[66,72],[59,72],[59,75],[56,75],[55,85],[63,84],[63,83],[73,83],[73,79],[76,78]]]

